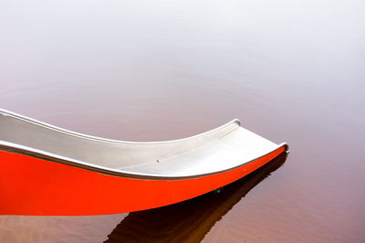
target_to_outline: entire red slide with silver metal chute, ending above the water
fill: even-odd
[[[238,120],[193,137],[134,143],[0,110],[0,214],[101,215],[178,203],[287,152]]]

